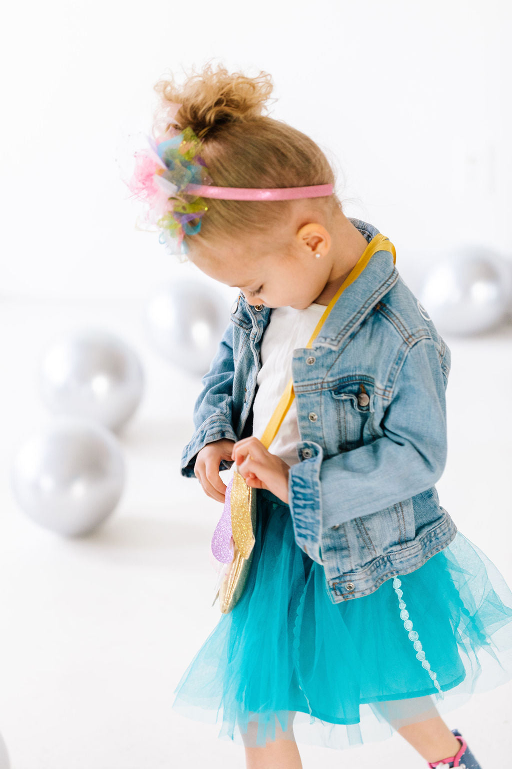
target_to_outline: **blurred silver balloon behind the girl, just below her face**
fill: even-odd
[[[160,286],[144,311],[153,348],[174,365],[201,376],[210,368],[229,318],[229,305],[220,291],[193,279]]]

